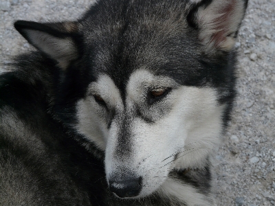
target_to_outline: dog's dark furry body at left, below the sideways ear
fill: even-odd
[[[52,61],[37,53],[17,60],[18,70],[0,77],[0,205],[91,205],[89,196],[104,192],[104,168],[47,113]]]

